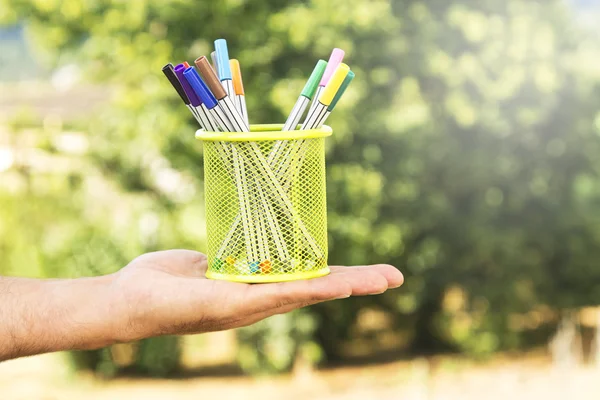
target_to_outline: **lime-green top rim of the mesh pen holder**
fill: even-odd
[[[250,132],[209,132],[196,131],[196,139],[205,142],[262,142],[271,140],[316,139],[331,136],[333,130],[328,125],[305,131],[282,131],[283,124],[250,125]]]

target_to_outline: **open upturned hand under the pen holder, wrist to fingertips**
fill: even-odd
[[[275,314],[327,300],[379,294],[402,285],[390,265],[331,267],[303,281],[250,285],[206,278],[202,253],[169,250],[144,254],[113,275],[111,308],[125,319],[113,329],[119,341],[246,326]]]

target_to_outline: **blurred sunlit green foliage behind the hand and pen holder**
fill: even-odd
[[[85,168],[52,189],[21,169],[18,190],[2,195],[11,273],[69,275],[89,260],[107,272],[150,249],[202,249],[200,146],[160,68],[225,37],[252,122],[282,121],[315,60],[347,51],[357,78],[329,120],[330,260],[389,262],[407,278],[387,296],[240,331],[244,368],[289,369],[304,343],[317,361],[315,340],[342,356],[366,305],[389,313],[412,349],[483,355],[519,346],[515,316],[600,301],[599,34],[566,2],[0,0],[0,10],[26,21],[46,62],[75,61],[117,93],[83,127]],[[460,306],[448,305],[453,293]],[[318,324],[304,331],[304,318]],[[173,365],[142,359],[146,370],[166,362],[155,373]]]

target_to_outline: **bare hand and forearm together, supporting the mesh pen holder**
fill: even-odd
[[[206,269],[204,254],[169,250],[144,254],[114,274],[94,278],[0,277],[0,361],[232,329],[403,283],[390,265],[331,267],[322,278],[260,285],[209,280]]]

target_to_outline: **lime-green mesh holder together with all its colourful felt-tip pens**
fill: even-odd
[[[240,64],[224,39],[215,41],[212,65],[202,56],[197,70],[186,62],[163,67],[201,128],[209,278],[329,273],[324,138],[332,130],[323,123],[354,78],[343,57],[334,49],[317,62],[283,126],[249,124]]]

